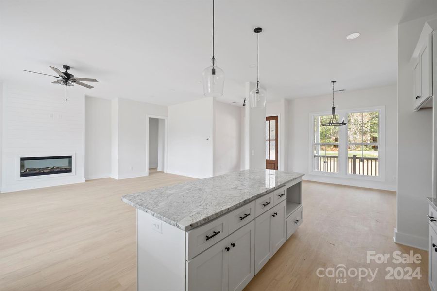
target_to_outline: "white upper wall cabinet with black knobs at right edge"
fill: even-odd
[[[435,24],[437,22],[432,21],[425,25],[412,56],[414,110],[433,106],[433,89],[437,86],[435,78],[433,78],[437,65],[436,62],[433,62],[433,58],[437,55],[435,45],[437,30],[433,27]]]

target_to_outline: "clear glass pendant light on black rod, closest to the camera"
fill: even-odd
[[[207,97],[220,97],[223,95],[224,72],[216,66],[214,57],[214,0],[213,0],[213,57],[212,65],[203,70],[203,95]]]

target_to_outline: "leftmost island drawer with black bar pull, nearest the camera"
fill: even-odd
[[[228,214],[186,233],[186,259],[192,259],[229,234]]]

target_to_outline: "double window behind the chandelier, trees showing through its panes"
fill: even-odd
[[[346,126],[321,126],[326,113],[311,114],[313,174],[342,178],[384,179],[384,107],[338,111]]]

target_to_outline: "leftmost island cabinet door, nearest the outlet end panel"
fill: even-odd
[[[228,238],[187,262],[187,290],[228,290]]]

